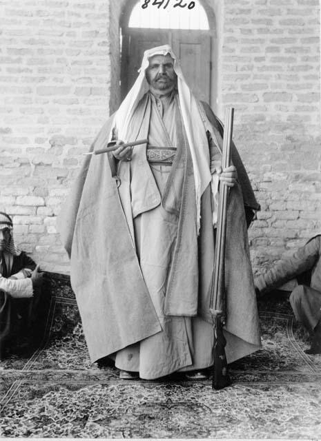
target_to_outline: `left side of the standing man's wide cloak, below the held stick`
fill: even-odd
[[[110,118],[91,151],[106,147],[112,126]],[[70,256],[70,283],[92,361],[162,330],[139,267],[110,159],[108,154],[85,156],[57,222]]]

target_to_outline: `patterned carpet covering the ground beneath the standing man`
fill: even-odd
[[[0,364],[3,438],[321,438],[321,356],[303,352],[280,294],[260,301],[263,349],[213,391],[210,380],[124,381],[91,364],[68,277],[49,283],[43,340]]]

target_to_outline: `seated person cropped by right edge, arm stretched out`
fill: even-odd
[[[283,258],[265,274],[257,276],[254,283],[264,294],[295,277],[306,276],[307,271],[311,271],[311,283],[295,287],[290,302],[295,318],[312,337],[311,348],[304,352],[315,354],[321,353],[321,235],[311,238],[293,256]]]

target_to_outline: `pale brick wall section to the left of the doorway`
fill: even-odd
[[[59,271],[56,215],[109,113],[108,1],[0,3],[0,207],[17,243]]]

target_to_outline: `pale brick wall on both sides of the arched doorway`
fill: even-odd
[[[61,201],[119,103],[118,23],[130,2],[0,1],[0,208],[51,271],[68,271]],[[220,116],[235,107],[235,141],[262,205],[250,229],[256,269],[321,230],[318,2],[221,7]]]

